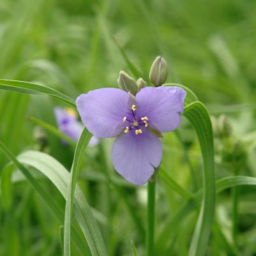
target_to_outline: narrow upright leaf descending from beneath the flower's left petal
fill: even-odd
[[[66,208],[65,208],[65,218],[64,218],[64,256],[70,256],[70,227],[72,220],[72,210],[73,210],[73,200],[75,193],[75,185],[77,183],[77,176],[79,174],[80,165],[82,162],[82,157],[84,156],[84,151],[91,139],[91,133],[84,128],[82,134],[80,135],[79,142],[75,149],[72,169],[70,172],[70,180],[68,182],[68,194],[66,199]],[[96,237],[95,237],[96,238]],[[90,243],[88,243],[90,244]],[[91,250],[94,250],[92,247]],[[93,253],[93,255],[100,255]]]

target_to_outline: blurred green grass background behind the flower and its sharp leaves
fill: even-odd
[[[44,84],[75,99],[91,89],[117,87],[120,70],[132,75],[129,61],[148,82],[160,55],[169,64],[167,81],[192,89],[213,116],[216,178],[255,176],[255,13],[253,0],[1,0],[0,78]],[[70,169],[74,147],[28,118],[56,126],[56,106],[65,107],[47,96],[0,91],[1,140],[15,154],[36,149]],[[97,213],[109,255],[132,255],[131,240],[142,255],[146,188],[116,174],[111,143],[103,140],[87,150],[79,183]],[[167,174],[191,192],[199,190],[202,160],[186,119],[178,132],[165,135],[163,150]],[[1,169],[6,163],[0,154]],[[10,198],[0,200],[0,255],[61,255],[59,222],[27,181],[12,181]],[[50,181],[40,178],[40,184],[64,209]],[[232,191],[218,195],[207,255],[256,255],[255,192],[239,188],[235,217]],[[160,177],[157,255],[188,253],[197,209],[172,222],[185,201]],[[72,255],[84,254],[72,246]]]

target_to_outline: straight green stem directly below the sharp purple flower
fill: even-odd
[[[154,256],[154,201],[156,180],[147,183],[146,256]]]

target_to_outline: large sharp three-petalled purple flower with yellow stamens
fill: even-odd
[[[155,133],[170,132],[181,123],[186,92],[181,87],[144,87],[135,100],[116,88],[81,94],[77,109],[89,132],[116,137],[112,163],[133,184],[146,183],[162,160],[162,144]]]

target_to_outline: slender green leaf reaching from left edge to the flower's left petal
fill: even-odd
[[[56,89],[52,89],[41,84],[33,84],[31,82],[24,82],[18,80],[0,79],[0,89],[5,91],[17,91],[19,93],[27,94],[49,95],[53,98],[57,98],[57,100],[61,100],[62,102],[67,103],[71,107],[76,107],[75,101],[69,96],[60,93]]]

